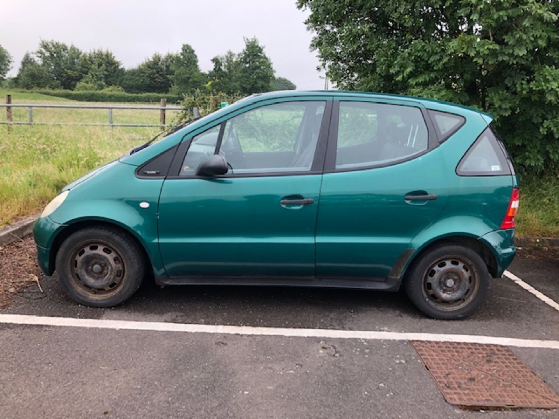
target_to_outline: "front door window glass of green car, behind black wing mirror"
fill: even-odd
[[[215,153],[227,160],[228,174],[309,172],[324,107],[323,101],[286,102],[241,113],[192,139],[181,174],[195,174]]]

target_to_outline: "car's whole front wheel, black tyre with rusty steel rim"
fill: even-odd
[[[107,227],[70,235],[56,254],[60,287],[80,304],[112,307],[130,298],[144,278],[143,252],[129,236]]]

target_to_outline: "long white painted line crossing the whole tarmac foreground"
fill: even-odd
[[[0,323],[15,325],[67,326],[114,330],[148,330],[159,332],[189,332],[220,335],[328,337],[331,339],[366,340],[424,340],[432,342],[466,342],[518,347],[559,349],[557,340],[518,339],[514,337],[446,335],[420,332],[383,332],[373,330],[335,330],[286,327],[251,327],[227,325],[196,325],[188,323],[97,320],[93,318],[46,317],[0,314]]]

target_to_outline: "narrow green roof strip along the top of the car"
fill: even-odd
[[[340,90],[314,90],[314,91],[298,91],[298,90],[286,90],[286,91],[275,91],[275,92],[266,92],[266,93],[255,93],[250,96],[247,96],[243,99],[240,99],[238,102],[248,102],[250,99],[255,100],[262,100],[266,98],[276,98],[276,97],[297,97],[297,96],[308,96],[312,94],[312,96],[334,96],[337,98],[343,97],[363,97],[363,98],[379,98],[379,99],[400,99],[406,101],[413,101],[419,102],[425,108],[428,109],[435,109],[438,111],[447,111],[447,112],[459,112],[459,109],[464,111],[473,111],[479,112],[481,115],[485,115],[493,119],[491,115],[488,113],[482,112],[479,109],[463,106],[460,104],[452,103],[452,102],[445,102],[445,101],[438,101],[437,99],[427,99],[427,98],[420,98],[415,96],[405,96],[403,94],[394,94],[394,93],[377,93],[377,92],[362,92],[362,91],[340,91]],[[446,109],[445,109],[446,108]]]

